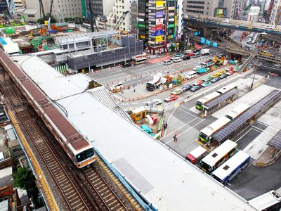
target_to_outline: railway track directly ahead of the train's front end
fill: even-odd
[[[85,167],[82,172],[84,174],[84,183],[88,185],[92,195],[96,196],[96,201],[102,210],[128,210],[93,165]]]

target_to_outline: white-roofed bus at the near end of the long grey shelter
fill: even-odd
[[[228,122],[230,122],[230,119],[228,119],[228,117],[221,117],[215,122],[209,124],[207,127],[203,128],[200,131],[198,136],[199,141],[207,143],[207,141],[209,141],[210,136],[217,132],[218,129],[221,129],[223,126],[228,124]]]

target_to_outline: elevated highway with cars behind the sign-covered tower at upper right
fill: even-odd
[[[192,23],[197,27],[203,27],[204,37],[207,37],[207,29],[225,28],[229,30],[242,30],[248,32],[266,32],[268,34],[281,35],[281,26],[277,25],[275,28],[270,28],[270,25],[264,23],[249,23],[244,20],[229,19],[228,23],[223,22],[223,18],[210,17],[204,15],[189,15],[184,16],[183,20]],[[266,26],[266,27],[264,27]]]

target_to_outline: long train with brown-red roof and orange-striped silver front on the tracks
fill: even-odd
[[[53,103],[32,80],[20,70],[13,60],[0,49],[0,63],[7,70],[16,86],[30,102],[46,127],[51,131],[63,150],[77,168],[95,161],[95,152],[91,143],[77,132],[77,129],[53,106]]]

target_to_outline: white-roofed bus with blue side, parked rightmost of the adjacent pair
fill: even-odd
[[[217,170],[211,173],[217,181],[222,184],[228,184],[228,181],[233,179],[237,174],[242,172],[245,167],[249,164],[251,156],[243,151],[238,151],[232,158],[223,163]]]

